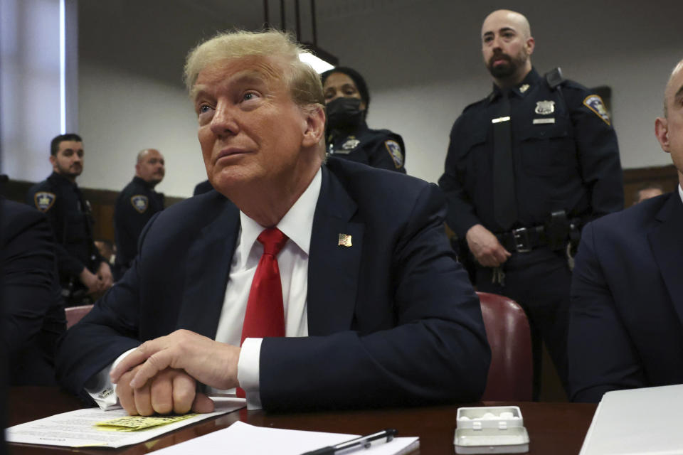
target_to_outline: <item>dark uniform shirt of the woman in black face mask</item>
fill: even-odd
[[[374,168],[406,173],[406,147],[401,136],[388,129],[369,129],[366,122],[350,134],[332,132],[327,151]]]

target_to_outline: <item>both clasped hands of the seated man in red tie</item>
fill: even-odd
[[[202,382],[218,389],[238,386],[240,348],[187,330],[146,341],[112,368],[121,406],[130,415],[212,412],[197,392]]]

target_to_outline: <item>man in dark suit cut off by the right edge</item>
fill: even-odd
[[[655,134],[679,187],[586,225],[571,288],[571,399],[683,382],[683,61]]]

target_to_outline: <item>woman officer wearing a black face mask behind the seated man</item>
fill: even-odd
[[[406,173],[403,139],[388,129],[369,129],[370,104],[363,77],[343,66],[322,73],[327,104],[327,151],[376,168]]]

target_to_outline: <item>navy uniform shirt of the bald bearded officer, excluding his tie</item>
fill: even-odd
[[[480,223],[502,232],[493,213],[493,124],[501,92],[462,112],[450,132],[439,186],[458,237]],[[623,208],[617,137],[598,95],[571,80],[552,88],[532,69],[509,95],[518,220],[542,225],[565,210],[584,222]]]

